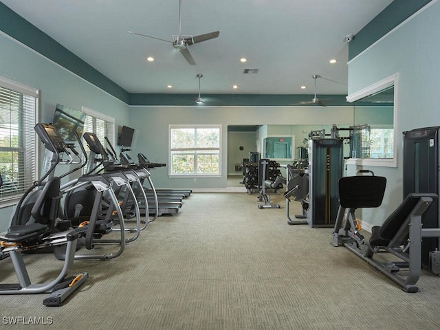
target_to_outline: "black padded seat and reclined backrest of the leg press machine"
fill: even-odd
[[[371,228],[371,238],[369,240],[372,246],[386,246],[394,238],[397,231],[410,216],[421,197],[429,196],[437,199],[435,194],[409,194],[404,201],[391,213],[384,223]],[[408,229],[409,232],[409,229]]]

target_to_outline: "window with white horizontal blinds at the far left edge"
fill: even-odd
[[[36,180],[38,90],[0,77],[0,205],[17,203]]]

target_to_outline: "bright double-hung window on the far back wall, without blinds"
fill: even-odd
[[[170,175],[220,175],[221,125],[170,126]]]

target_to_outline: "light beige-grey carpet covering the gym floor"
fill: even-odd
[[[150,223],[109,261],[76,261],[89,280],[63,307],[36,296],[0,296],[5,317],[52,318],[50,329],[439,329],[440,278],[423,274],[407,294],[345,248],[331,228],[287,225],[257,195],[193,193],[173,217]],[[300,213],[292,203],[292,217]],[[109,248],[109,247],[104,247]],[[28,255],[32,279],[61,265]],[[14,280],[0,261],[0,281]],[[47,329],[47,325],[28,325]]]

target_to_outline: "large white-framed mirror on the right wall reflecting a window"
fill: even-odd
[[[353,102],[349,165],[397,166],[398,74],[347,96]]]

